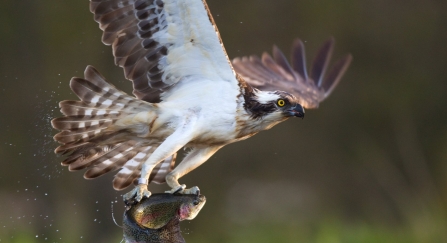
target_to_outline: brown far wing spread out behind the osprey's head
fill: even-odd
[[[310,75],[307,74],[304,44],[296,39],[292,46],[292,65],[284,54],[273,47],[273,57],[264,53],[262,58],[257,56],[235,58],[234,70],[251,86],[260,90],[283,90],[300,99],[305,108],[317,108],[332,90],[351,63],[349,54],[339,60],[329,75],[324,78],[327,70],[334,39],[329,39],[320,49],[313,61]]]

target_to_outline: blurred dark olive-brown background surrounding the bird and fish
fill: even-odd
[[[308,61],[330,36],[354,61],[306,119],[220,150],[180,181],[207,204],[187,242],[447,242],[447,2],[209,0],[231,58]],[[93,65],[131,83],[89,2],[3,0],[0,7],[0,242],[119,242],[113,175],[87,181],[53,154],[50,120]],[[166,186],[151,186],[164,191]]]

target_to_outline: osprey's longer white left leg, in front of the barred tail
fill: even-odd
[[[167,137],[166,140],[155,149],[154,153],[152,153],[149,159],[143,164],[141,177],[138,179],[138,185],[130,192],[124,194],[125,202],[130,201],[132,198],[139,202],[143,197],[149,197],[151,195],[151,192],[147,189],[147,185],[152,169],[158,163],[176,153],[194,138],[194,132],[196,131],[194,126],[195,123],[195,116],[192,115],[187,117],[183,123],[177,126],[175,132]]]

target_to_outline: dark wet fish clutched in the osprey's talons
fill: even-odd
[[[139,203],[125,202],[126,243],[185,243],[180,221],[193,220],[206,202],[204,195],[157,193]]]

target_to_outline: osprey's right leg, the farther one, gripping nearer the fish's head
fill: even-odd
[[[207,148],[194,148],[171,173],[166,175],[166,183],[172,188],[166,193],[199,194],[197,186],[185,189],[185,185],[180,185],[178,179],[194,170],[207,161],[222,146],[210,146]]]

